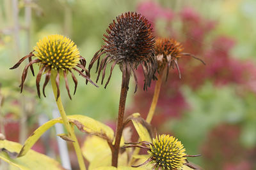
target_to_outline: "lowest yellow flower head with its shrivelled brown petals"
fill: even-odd
[[[200,155],[186,155],[186,149],[182,145],[178,139],[175,139],[173,136],[162,134],[153,139],[152,143],[147,141],[142,141],[138,143],[126,143],[131,144],[127,147],[139,147],[145,148],[148,150],[150,155],[149,159],[146,160],[143,164],[139,166],[143,166],[148,162],[154,164],[154,168],[158,169],[182,169],[182,166],[186,165],[193,169],[196,169],[191,164],[188,163],[186,157],[198,157]],[[143,144],[143,145],[139,145]],[[139,167],[132,166],[132,167]]]

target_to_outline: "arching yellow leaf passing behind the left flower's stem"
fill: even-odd
[[[109,142],[113,141],[114,132],[111,127],[102,124],[101,122],[94,120],[93,118],[83,115],[71,115],[68,116],[68,121],[76,125],[77,128],[82,132],[87,132],[89,134],[99,136],[100,138],[104,138]],[[57,123],[63,124],[61,118],[49,120],[44,125],[38,127],[38,129],[36,129],[36,131],[33,132],[33,134],[31,134],[31,136],[29,136],[29,138],[25,141],[25,144],[22,147],[22,150],[20,150],[18,157],[22,157],[23,155],[25,155],[40,138],[40,136],[42,136],[45,131],[47,131],[50,127]]]

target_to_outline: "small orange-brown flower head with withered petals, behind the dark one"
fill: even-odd
[[[179,42],[177,42],[175,39],[172,39],[172,38],[156,39],[155,51],[156,51],[156,57],[157,57],[157,71],[158,73],[160,73],[167,66],[166,80],[168,78],[169,68],[170,67],[174,68],[174,64],[179,71],[179,78],[181,78],[180,69],[179,69],[177,60],[182,55],[189,55],[195,59],[198,59],[197,57],[195,57],[194,55],[191,55],[190,53],[183,53],[182,52],[183,50],[184,48],[182,47],[182,45]],[[202,61],[201,59],[198,59],[198,60],[204,63],[204,61]]]

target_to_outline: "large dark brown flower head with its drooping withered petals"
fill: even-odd
[[[101,84],[103,83],[106,66],[109,62],[113,62],[105,88],[115,65],[118,64],[123,73],[124,87],[128,88],[129,78],[133,73],[137,89],[138,80],[134,69],[137,69],[138,65],[141,64],[145,76],[144,89],[147,90],[152,78],[155,78],[154,74],[157,67],[154,55],[154,35],[148,20],[138,13],[127,12],[116,17],[116,21],[113,20],[113,23],[109,24],[106,32],[108,34],[104,34],[105,45],[95,53],[89,66],[90,71],[93,63],[97,60],[96,72],[98,72],[98,76],[96,82],[102,71]],[[100,56],[103,54],[105,57],[100,62]]]

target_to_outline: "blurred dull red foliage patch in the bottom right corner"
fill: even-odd
[[[256,166],[250,150],[239,143],[240,131],[239,125],[229,124],[212,129],[202,145],[205,169],[249,170]]]

